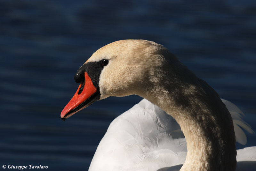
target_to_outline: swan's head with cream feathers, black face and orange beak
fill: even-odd
[[[65,120],[93,102],[109,96],[128,96],[159,82],[166,61],[179,63],[166,48],[152,41],[121,40],[98,49],[81,66],[75,81],[79,87],[61,112]]]

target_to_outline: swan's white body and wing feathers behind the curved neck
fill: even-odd
[[[236,141],[246,144],[246,135],[240,127],[249,133],[253,130],[242,120],[243,112],[228,100],[222,101],[233,118]],[[89,171],[180,170],[186,155],[187,143],[179,124],[161,108],[143,99],[109,125]],[[245,165],[241,161],[256,161],[256,147],[237,150],[237,161],[237,170],[244,168],[240,166]],[[256,162],[252,166],[255,167]]]

